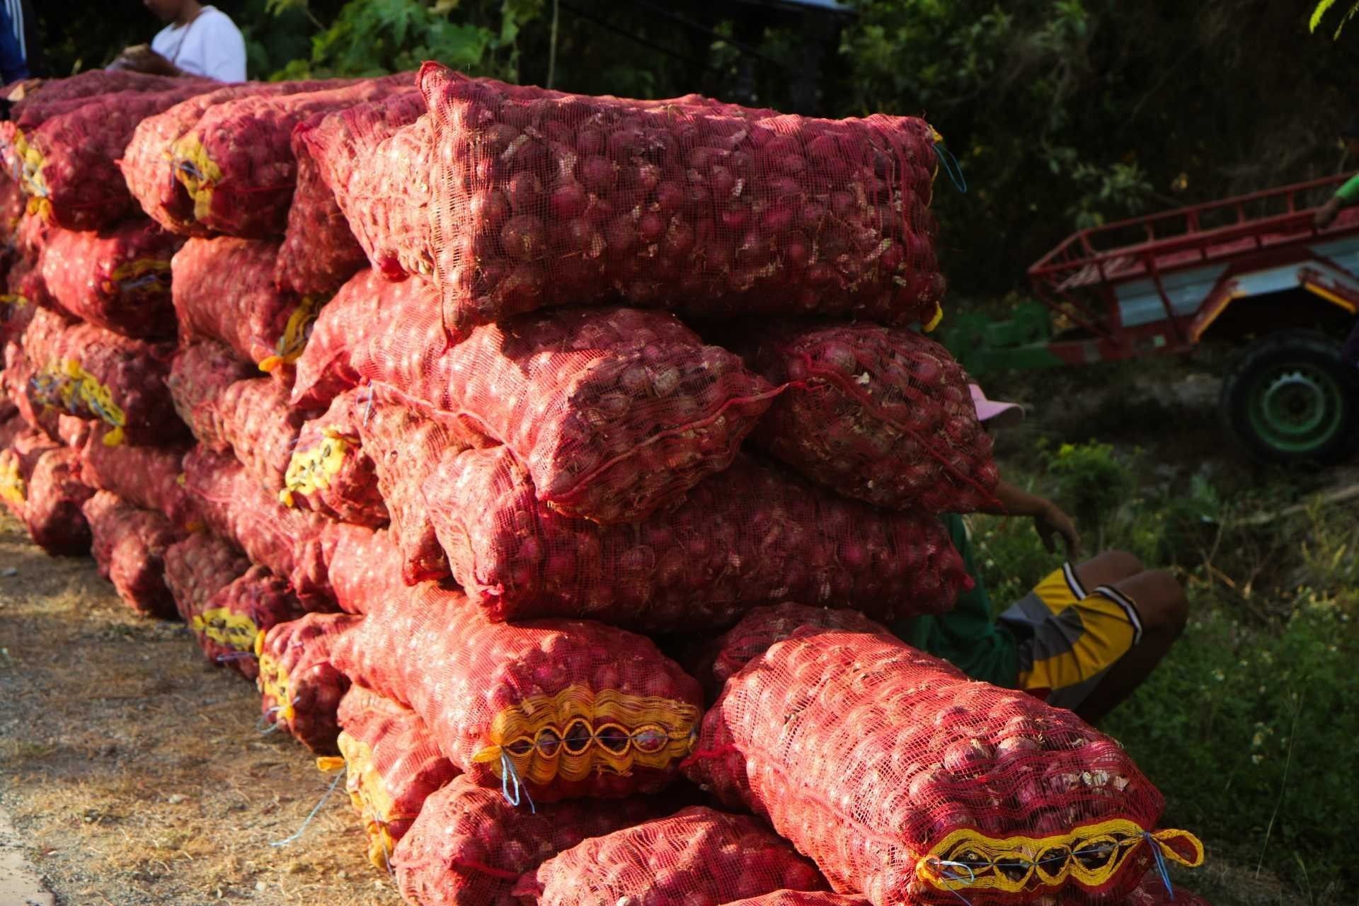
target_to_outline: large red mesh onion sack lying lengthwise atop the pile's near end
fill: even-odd
[[[697,316],[932,322],[923,121],[515,99],[427,64],[435,277],[453,336],[616,297]]]

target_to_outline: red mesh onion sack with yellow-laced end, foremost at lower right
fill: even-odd
[[[1203,857],[1155,830],[1161,793],[1118,743],[875,634],[800,630],[752,660],[688,772],[878,906],[1116,899],[1154,849]]]

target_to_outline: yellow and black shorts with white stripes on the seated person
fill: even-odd
[[[1068,710],[1142,641],[1132,599],[1110,585],[1087,592],[1071,564],[1038,583],[998,622],[1019,640],[1019,689]]]

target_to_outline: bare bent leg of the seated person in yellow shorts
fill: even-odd
[[[1189,615],[1184,588],[1165,570],[1139,572],[1104,584],[1133,602],[1142,618],[1142,638],[1109,667],[1099,683],[1075,708],[1091,724],[1104,719],[1142,685],[1184,632]]]

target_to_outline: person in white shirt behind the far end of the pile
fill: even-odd
[[[246,42],[231,18],[198,0],[143,0],[162,22],[169,22],[151,46],[128,48],[110,69],[156,75],[207,76],[217,81],[245,81]]]

